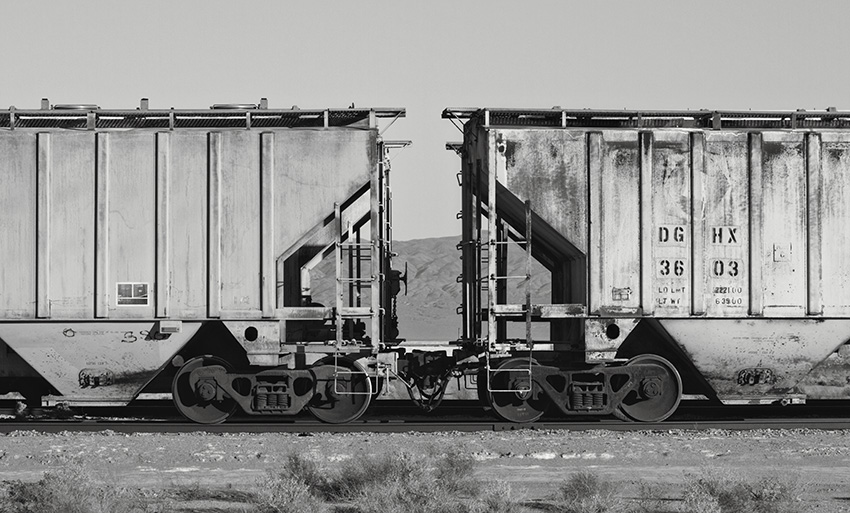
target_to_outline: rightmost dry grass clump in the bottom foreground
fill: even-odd
[[[683,497],[694,513],[798,513],[799,489],[790,478],[776,476],[747,481],[718,471],[688,476]]]

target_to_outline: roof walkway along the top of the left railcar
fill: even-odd
[[[96,105],[48,105],[0,110],[0,129],[18,128],[374,128],[377,118],[405,116],[403,108],[269,109],[264,103],[217,104],[201,109],[101,109]]]

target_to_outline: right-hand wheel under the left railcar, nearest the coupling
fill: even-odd
[[[314,417],[328,424],[357,420],[372,399],[372,380],[349,358],[323,358],[314,366],[316,395],[307,405]]]

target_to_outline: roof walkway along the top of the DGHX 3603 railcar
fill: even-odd
[[[850,128],[850,112],[732,111],[732,110],[597,110],[597,109],[502,109],[490,107],[446,108],[443,118],[475,119],[487,127],[553,128]]]

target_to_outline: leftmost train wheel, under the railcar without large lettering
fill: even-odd
[[[236,412],[236,401],[230,397],[217,400],[214,381],[192,382],[192,371],[200,367],[219,365],[230,371],[230,364],[216,356],[198,356],[184,363],[171,384],[174,405],[187,419],[199,424],[220,424]]]

